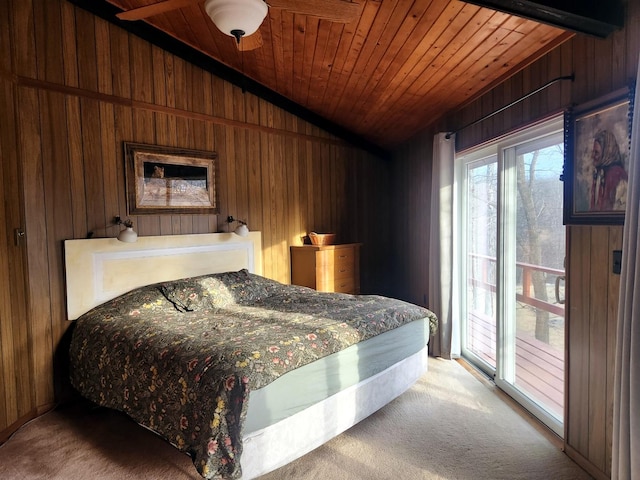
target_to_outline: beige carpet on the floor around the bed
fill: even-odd
[[[429,359],[404,395],[261,480],[589,479],[458,362]],[[3,480],[198,479],[190,459],[123,415],[83,405],[30,422],[0,447]]]

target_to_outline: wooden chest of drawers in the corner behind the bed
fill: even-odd
[[[361,243],[291,247],[291,283],[320,292],[360,293]]]

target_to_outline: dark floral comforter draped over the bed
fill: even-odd
[[[429,310],[320,293],[246,270],[133,290],[80,317],[71,381],[191,455],[205,478],[241,476],[251,389]]]

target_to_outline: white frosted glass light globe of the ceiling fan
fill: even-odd
[[[216,27],[230,37],[234,30],[252,35],[260,28],[269,8],[263,0],[206,0],[204,9]]]

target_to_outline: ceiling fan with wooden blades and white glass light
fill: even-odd
[[[120,20],[142,20],[200,2],[202,0],[162,0],[116,16]],[[360,15],[360,4],[345,0],[204,0],[207,15],[222,33],[236,39],[240,50],[253,50],[262,45],[258,29],[269,8],[339,23],[349,23]]]

